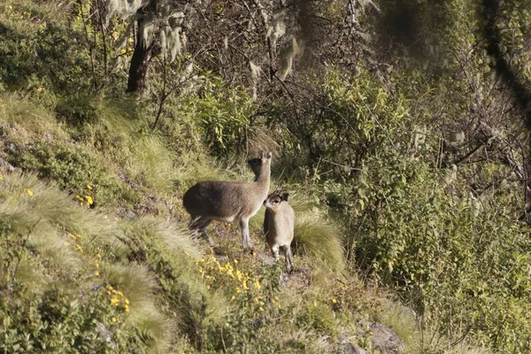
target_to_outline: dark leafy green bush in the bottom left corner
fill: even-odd
[[[76,293],[61,288],[39,294],[15,283],[3,292],[0,351],[4,353],[64,351],[65,345],[70,352],[82,353],[147,351],[135,331],[123,330],[124,324],[118,322],[106,300],[105,289]]]

